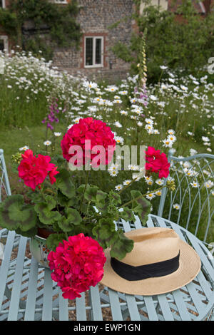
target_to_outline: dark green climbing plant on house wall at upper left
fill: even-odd
[[[51,58],[54,46],[78,46],[78,11],[76,0],[66,5],[49,0],[11,0],[6,9],[0,9],[0,26],[26,51],[43,51],[45,58]]]

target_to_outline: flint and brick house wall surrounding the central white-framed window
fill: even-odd
[[[89,79],[94,76],[99,79],[126,78],[129,64],[116,58],[111,51],[113,45],[121,41],[128,44],[133,29],[136,29],[131,14],[135,10],[132,0],[78,0],[81,10],[76,21],[81,26],[83,36],[80,48],[56,48],[54,50],[54,66],[68,71],[73,75],[81,73]],[[112,24],[122,21],[116,28],[109,29]],[[87,68],[85,66],[86,36],[101,36],[103,38],[103,66]]]

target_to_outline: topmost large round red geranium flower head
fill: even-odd
[[[88,140],[88,147],[86,148],[86,140]],[[89,140],[91,142],[89,142]],[[81,153],[72,152],[73,145],[78,145],[81,148]],[[101,150],[93,153],[95,145],[101,145]],[[77,159],[73,162],[73,165],[86,165],[89,160],[92,162],[99,153],[101,153],[102,159],[96,162],[96,165],[107,165],[111,162],[113,152],[115,150],[116,140],[114,140],[114,134],[111,128],[106,126],[101,120],[93,120],[93,118],[80,119],[78,123],[73,125],[68,132],[63,136],[61,140],[61,148],[63,151],[63,158],[68,162],[75,155]],[[78,158],[81,161],[78,164]]]

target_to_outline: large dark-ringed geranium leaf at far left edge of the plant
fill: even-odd
[[[26,232],[36,226],[36,221],[34,207],[26,205],[22,195],[11,195],[1,203],[0,227],[8,230],[20,228]]]

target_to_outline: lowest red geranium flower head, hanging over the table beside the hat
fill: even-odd
[[[49,253],[48,260],[54,270],[51,278],[61,287],[63,298],[75,299],[101,281],[106,257],[95,239],[78,234],[59,243],[56,252]]]

